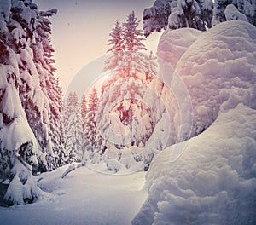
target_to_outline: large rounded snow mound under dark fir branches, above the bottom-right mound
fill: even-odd
[[[172,53],[170,53],[172,54]],[[228,21],[202,33],[177,63],[192,101],[192,136],[243,102],[256,108],[256,28]],[[170,80],[172,84],[172,80]]]

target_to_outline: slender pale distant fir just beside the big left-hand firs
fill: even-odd
[[[82,160],[84,148],[83,120],[75,92],[68,94],[64,108],[65,160],[71,164]]]

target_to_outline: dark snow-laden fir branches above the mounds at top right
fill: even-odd
[[[230,4],[231,9],[225,13]],[[143,11],[143,30],[147,37],[162,29],[191,27],[206,31],[226,20],[246,20],[256,26],[256,4],[254,0],[156,0],[151,8]],[[243,15],[244,14],[244,15]],[[228,18],[227,18],[228,16]]]

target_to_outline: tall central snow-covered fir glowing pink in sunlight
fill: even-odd
[[[154,130],[151,108],[143,101],[148,84],[156,74],[155,56],[144,54],[143,31],[132,11],[120,26],[110,32],[112,55],[104,68],[108,78],[102,84],[96,111],[96,126],[101,134],[103,153],[121,159],[121,149],[143,147]]]

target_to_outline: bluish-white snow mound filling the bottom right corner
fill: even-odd
[[[256,111],[240,104],[190,139],[175,163],[176,146],[166,148],[150,166],[149,197],[132,223],[255,224],[255,121]]]

